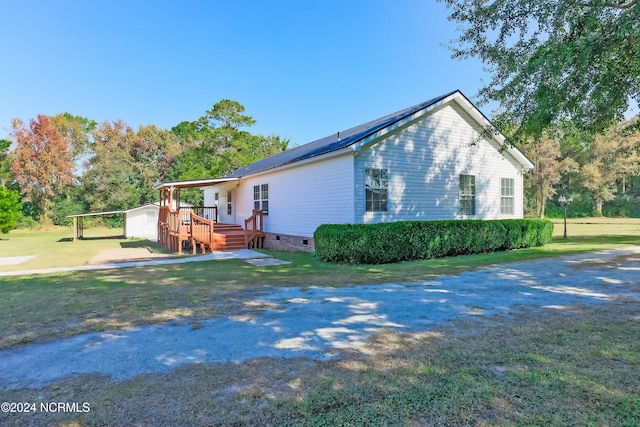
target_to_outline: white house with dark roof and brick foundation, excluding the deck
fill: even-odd
[[[189,185],[221,223],[262,209],[267,248],[312,249],[326,223],[521,218],[533,164],[490,128],[454,91]]]

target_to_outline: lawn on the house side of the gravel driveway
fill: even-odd
[[[600,220],[602,221],[602,220]],[[386,265],[343,265],[322,262],[306,252],[265,251],[291,264],[254,267],[242,260],[207,261],[179,265],[104,271],[69,272],[43,276],[0,278],[0,348],[71,336],[88,331],[118,329],[183,319],[198,322],[243,310],[246,292],[267,286],[348,286],[363,283],[419,281],[442,274],[506,262],[611,249],[640,244],[640,221],[614,224],[571,224],[569,240],[556,226],[554,241],[540,248]],[[612,235],[594,235],[612,230]],[[83,264],[104,248],[148,245],[123,239],[67,241],[68,230],[10,234],[17,248],[12,255],[40,253],[32,268],[66,263]],[[628,235],[618,233],[627,232]],[[66,237],[64,237],[66,236]],[[36,244],[41,242],[40,246]],[[51,252],[49,254],[49,252]],[[9,252],[11,253],[11,252]],[[7,256],[3,246],[0,256]],[[28,268],[4,266],[6,269]]]

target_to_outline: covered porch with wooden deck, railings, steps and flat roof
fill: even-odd
[[[231,179],[233,180],[233,179]],[[218,222],[218,206],[180,207],[180,190],[203,188],[229,179],[207,179],[160,184],[158,243],[182,254],[208,251],[262,248],[264,244],[264,213],[254,210],[244,220],[244,227]]]

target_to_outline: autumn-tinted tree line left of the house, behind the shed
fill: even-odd
[[[171,130],[69,113],[14,119],[13,141],[0,140],[0,231],[130,209],[157,201],[158,182],[223,176],[288,148],[287,139],[245,130],[253,124],[228,99]],[[202,194],[183,200],[201,204]]]

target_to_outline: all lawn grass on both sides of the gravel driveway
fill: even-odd
[[[273,286],[415,281],[639,245],[640,221],[581,219],[569,223],[568,233],[563,240],[557,222],[553,242],[542,248],[391,265],[334,265],[308,253],[269,252],[292,264],[227,260],[0,278],[0,348],[172,319],[197,327],[202,319],[251,314],[257,308],[244,301]],[[15,236],[0,242],[3,251],[8,242],[20,254],[40,250],[32,247],[34,236]],[[77,250],[73,245],[83,243],[60,238],[37,235],[52,241],[43,244],[48,248]],[[87,243],[94,250],[120,245],[117,239]],[[10,255],[19,254],[0,256]],[[332,362],[196,364],[122,382],[80,376],[3,392],[3,401],[86,401],[90,413],[0,414],[0,424],[640,425],[639,312],[633,300],[544,316],[523,310],[515,319],[458,322],[418,335],[385,332],[365,352]]]

